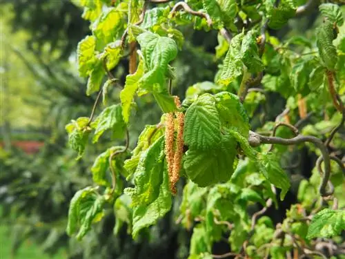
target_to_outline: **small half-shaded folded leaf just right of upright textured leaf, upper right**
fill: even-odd
[[[259,57],[259,48],[253,30],[246,33],[241,47],[242,61],[250,73],[259,73],[264,69],[262,59]]]

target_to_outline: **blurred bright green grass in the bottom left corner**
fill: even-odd
[[[0,259],[63,259],[63,253],[50,257],[43,253],[39,246],[27,240],[20,247],[16,256],[11,257],[12,238],[8,227],[0,225]]]

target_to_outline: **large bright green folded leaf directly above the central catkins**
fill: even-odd
[[[174,99],[168,95],[166,75],[168,64],[177,56],[177,45],[169,37],[160,37],[152,32],[137,37],[148,70],[140,79],[141,88],[153,93],[164,113],[174,111]]]

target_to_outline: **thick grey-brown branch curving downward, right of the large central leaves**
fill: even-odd
[[[319,140],[317,137],[297,135],[296,137],[290,139],[284,139],[282,137],[266,137],[264,135],[259,135],[253,131],[250,131],[248,141],[251,146],[258,146],[260,144],[279,144],[288,146],[301,144],[304,142],[313,143],[321,151],[322,159],[324,160],[325,164],[324,178],[322,178],[322,182],[319,186],[319,192],[322,195],[322,197],[326,197],[332,194],[331,192],[326,191],[326,186],[331,175],[331,158],[326,146],[324,146],[322,141]]]

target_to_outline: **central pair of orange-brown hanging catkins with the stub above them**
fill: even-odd
[[[179,97],[175,96],[177,108],[181,107]],[[177,136],[175,141],[175,116],[177,121]],[[176,194],[176,183],[179,180],[181,160],[184,153],[184,113],[175,112],[166,114],[166,161],[168,162],[170,191]]]

